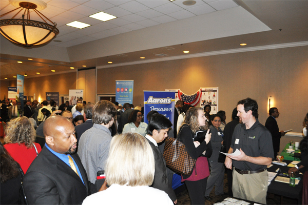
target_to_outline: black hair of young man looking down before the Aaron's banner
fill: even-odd
[[[147,133],[149,135],[153,135],[153,130],[157,130],[158,132],[160,132],[160,130],[168,129],[171,126],[172,123],[167,117],[162,114],[155,114],[152,115],[151,120],[149,121]]]

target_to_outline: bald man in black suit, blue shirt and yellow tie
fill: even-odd
[[[63,116],[45,120],[46,144],[34,159],[24,178],[29,204],[81,204],[97,192],[76,151],[75,129]]]

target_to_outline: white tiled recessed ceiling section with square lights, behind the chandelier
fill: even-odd
[[[60,31],[49,45],[65,48],[238,6],[232,0],[196,0],[196,4],[192,6],[185,6],[183,0],[174,2],[168,0],[44,0],[44,2],[48,6],[40,12],[55,22]],[[2,14],[15,8],[9,3],[9,0],[1,0],[0,3]],[[100,11],[118,18],[102,22],[89,17],[89,15]],[[11,18],[14,14],[15,12],[8,14],[2,19]],[[33,20],[40,20],[34,12],[31,12],[30,16]],[[91,26],[84,29],[66,26],[74,20]]]

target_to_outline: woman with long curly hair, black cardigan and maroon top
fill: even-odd
[[[182,182],[185,182],[191,204],[204,204],[206,182],[209,176],[207,158],[212,153],[211,134],[209,134],[208,130],[205,139],[201,143],[194,139],[197,131],[205,129],[208,129],[208,126],[203,110],[199,108],[187,110],[177,138],[183,142],[190,157],[197,160],[191,174],[182,175]]]

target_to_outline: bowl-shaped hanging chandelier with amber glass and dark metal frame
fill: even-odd
[[[10,4],[17,7],[12,11],[9,11],[0,16],[3,16],[16,11],[17,13],[11,19],[0,20],[0,33],[10,40],[11,42],[24,47],[35,47],[50,42],[57,34],[59,30],[56,27],[56,23],[51,22],[40,11],[47,7],[47,4],[40,0],[34,0],[25,2],[10,0]],[[43,22],[37,20],[31,20],[30,13],[36,13]],[[21,13],[20,18],[14,18],[17,14]],[[52,25],[47,23],[50,22]]]

